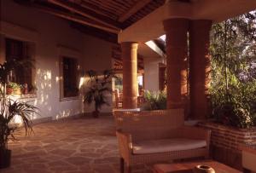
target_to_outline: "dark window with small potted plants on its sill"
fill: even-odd
[[[32,59],[32,43],[5,38],[5,56],[7,61],[26,61]],[[28,92],[34,90],[32,66],[15,69],[9,74],[9,82],[27,86]]]

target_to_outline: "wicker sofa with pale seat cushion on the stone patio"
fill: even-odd
[[[210,131],[184,125],[183,110],[113,112],[120,171],[135,164],[208,157]]]

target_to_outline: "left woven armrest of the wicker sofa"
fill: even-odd
[[[132,153],[131,134],[116,130],[119,143],[119,153],[123,159],[130,159]]]

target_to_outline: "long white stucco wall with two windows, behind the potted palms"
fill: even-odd
[[[40,118],[61,118],[88,112],[82,99],[60,101],[61,55],[74,55],[84,70],[111,68],[111,43],[86,36],[61,20],[36,9],[26,8],[10,0],[1,0],[1,32],[12,37],[35,43],[37,96],[33,104],[40,109]],[[3,37],[2,37],[3,40]],[[64,46],[65,48],[61,47]],[[3,46],[0,47],[4,59]],[[109,111],[105,108],[103,111]]]

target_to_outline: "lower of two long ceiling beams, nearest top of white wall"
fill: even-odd
[[[96,28],[101,29],[101,30],[106,31],[106,32],[112,32],[112,33],[116,33],[116,34],[119,33],[119,29],[102,25],[102,23],[99,23],[99,22],[96,22],[96,21],[93,21],[93,20],[84,19],[84,17],[81,17],[81,16],[76,15],[76,14],[69,14],[69,13],[66,13],[66,12],[62,12],[61,10],[51,9],[51,8],[43,7],[43,6],[37,5],[37,4],[31,4],[30,6],[32,6],[33,8],[36,8],[40,11],[43,11],[45,13],[53,14],[55,16],[61,17],[61,18],[66,19],[66,20],[75,21],[75,22],[80,23],[80,24],[85,25],[85,26],[93,26],[93,27],[96,27]]]

